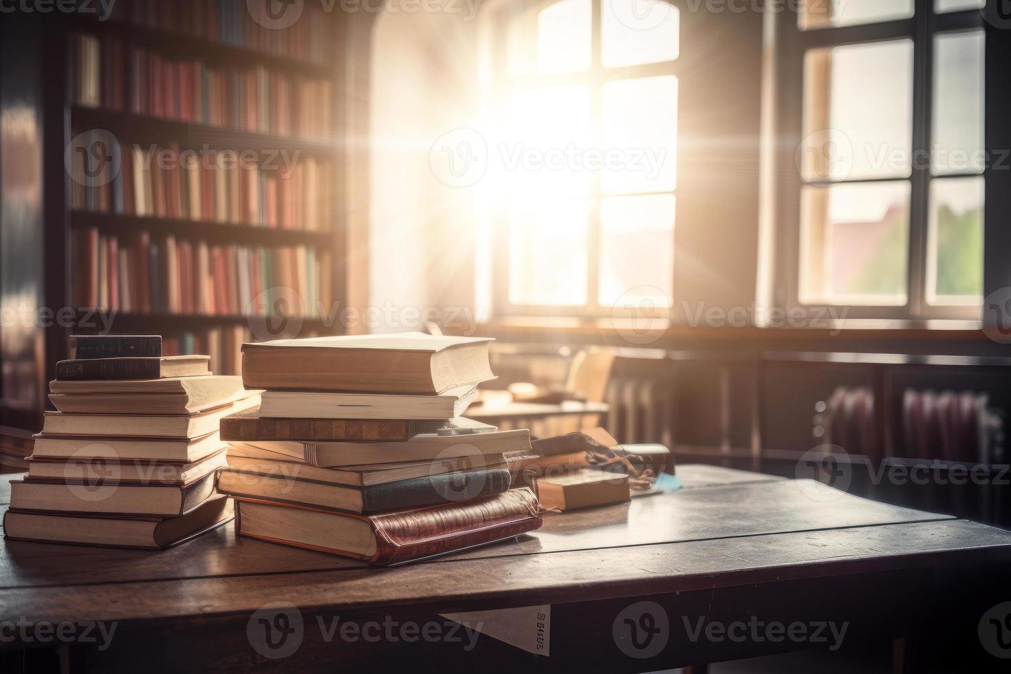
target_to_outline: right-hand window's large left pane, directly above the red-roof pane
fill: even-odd
[[[912,40],[808,52],[804,136],[807,180],[909,176]]]

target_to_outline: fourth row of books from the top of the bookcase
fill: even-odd
[[[120,240],[75,228],[74,300],[135,313],[318,317],[333,302],[329,251],[212,246],[137,231]],[[283,306],[280,306],[282,305]]]

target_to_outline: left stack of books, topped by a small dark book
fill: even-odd
[[[10,539],[159,549],[232,519],[214,490],[220,418],[256,406],[206,356],[163,357],[162,339],[72,336],[57,364],[28,475],[11,483]]]

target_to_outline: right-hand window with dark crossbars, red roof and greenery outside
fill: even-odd
[[[795,112],[778,132],[800,138],[800,182],[777,197],[782,235],[796,239],[780,247],[796,261],[788,302],[845,305],[851,317],[978,317],[981,6],[810,0],[779,19],[777,95]]]

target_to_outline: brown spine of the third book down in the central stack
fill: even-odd
[[[221,419],[221,440],[225,441],[398,442],[408,438],[407,421],[242,416]]]

